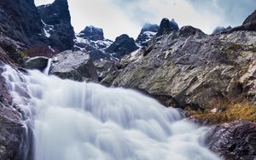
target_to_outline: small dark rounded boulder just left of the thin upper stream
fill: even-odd
[[[48,65],[48,60],[49,60],[49,58],[44,57],[44,56],[33,57],[29,60],[26,60],[25,68],[26,69],[37,69],[39,71],[44,71],[44,69]]]

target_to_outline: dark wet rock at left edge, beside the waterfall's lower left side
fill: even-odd
[[[2,73],[3,62],[0,61],[0,74]],[[5,79],[0,76],[0,159],[4,160],[15,159],[22,153],[25,156],[26,152],[24,150],[19,153],[25,137],[25,128],[22,125],[21,114],[14,106]]]

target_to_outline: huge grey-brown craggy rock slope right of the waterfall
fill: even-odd
[[[142,90],[166,106],[194,109],[254,100],[255,49],[254,31],[207,36],[184,26],[150,41],[113,85]]]

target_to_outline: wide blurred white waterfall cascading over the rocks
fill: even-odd
[[[15,102],[35,111],[35,160],[219,159],[201,143],[207,128],[136,91],[5,68]]]

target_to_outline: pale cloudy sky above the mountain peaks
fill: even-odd
[[[35,0],[36,5],[54,0]],[[76,32],[101,27],[106,38],[126,33],[136,38],[144,23],[164,17],[179,26],[195,26],[212,33],[216,26],[239,26],[256,9],[256,0],[68,0]]]

